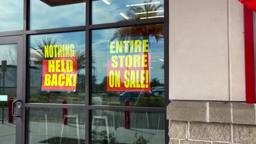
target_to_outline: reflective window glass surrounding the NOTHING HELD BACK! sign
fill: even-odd
[[[42,91],[43,60],[55,59],[45,57],[45,45],[75,45],[77,58],[77,83],[75,92],[54,90]],[[29,65],[29,102],[85,104],[85,32],[70,32],[30,36]],[[60,51],[56,49],[57,57]],[[73,59],[70,57],[68,59]],[[73,60],[75,61],[75,60]]]

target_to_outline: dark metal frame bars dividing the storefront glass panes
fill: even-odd
[[[19,59],[19,77],[21,77],[17,86],[21,87],[19,93],[22,93],[21,100],[23,101],[22,107],[22,118],[19,123],[19,136],[16,134],[16,144],[20,141],[20,144],[27,144],[27,109],[29,107],[41,107],[41,108],[80,108],[85,109],[85,144],[91,143],[91,110],[113,110],[113,111],[137,111],[137,112],[161,112],[165,114],[165,144],[169,142],[168,136],[168,120],[166,120],[166,107],[169,104],[169,0],[164,0],[164,14],[163,18],[154,19],[140,19],[136,21],[123,21],[115,22],[109,24],[91,24],[91,11],[92,11],[92,1],[86,0],[86,16],[85,16],[85,26],[78,27],[64,27],[64,28],[54,28],[54,29],[39,29],[39,30],[29,30],[29,2],[30,0],[23,0],[24,2],[24,29],[10,32],[0,32],[0,39],[6,36],[21,35],[21,51],[18,52]],[[147,25],[147,24],[164,24],[164,59],[165,59],[165,107],[154,108],[154,107],[119,107],[119,106],[99,106],[90,105],[90,79],[91,79],[91,30],[94,29],[107,29],[107,28],[117,28],[117,27],[132,27],[137,25]],[[50,34],[50,33],[60,33],[60,32],[75,32],[84,31],[85,33],[85,58],[86,58],[86,69],[85,69],[85,105],[74,105],[74,104],[36,104],[27,103],[28,96],[28,78],[29,78],[29,35],[39,35],[39,34]],[[10,39],[11,40],[11,39]],[[18,91],[17,91],[18,93]]]

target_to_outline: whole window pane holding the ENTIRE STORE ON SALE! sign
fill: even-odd
[[[163,24],[92,31],[92,104],[164,107]]]

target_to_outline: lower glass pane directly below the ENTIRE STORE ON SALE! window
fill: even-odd
[[[92,144],[164,144],[164,114],[92,111]]]

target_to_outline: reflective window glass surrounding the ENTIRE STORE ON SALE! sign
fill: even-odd
[[[164,31],[163,24],[141,25],[135,27],[121,27],[116,29],[107,29],[109,35],[103,36],[105,30],[98,30],[93,35],[93,53],[96,53],[92,65],[95,67],[92,72],[92,104],[96,105],[116,105],[124,106],[124,101],[128,99],[129,106],[133,107],[164,107],[164,80],[163,80],[163,65],[164,51],[163,40]],[[94,33],[94,32],[93,32]],[[102,36],[101,36],[102,35]],[[102,38],[103,37],[103,38]],[[108,37],[110,37],[108,39]],[[109,41],[124,41],[124,40],[149,40],[149,48],[154,63],[151,67],[151,91],[149,92],[132,92],[129,91],[107,91],[107,73],[97,75],[97,69],[105,70],[104,64],[108,59]],[[102,42],[103,41],[103,42]],[[95,45],[95,46],[94,46]],[[100,45],[100,46],[98,46]],[[105,54],[101,51],[106,51]],[[129,55],[129,53],[127,53]],[[100,58],[99,58],[100,57]],[[104,71],[105,72],[105,71]],[[96,75],[95,75],[96,74]],[[104,77],[102,77],[104,75]],[[160,76],[161,75],[161,76]],[[99,78],[98,78],[99,77]],[[161,78],[161,80],[159,79]],[[99,80],[99,81],[98,81]],[[156,92],[156,93],[154,93]]]

